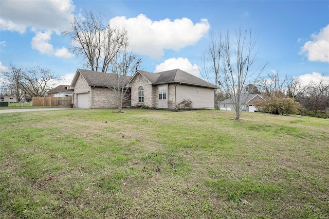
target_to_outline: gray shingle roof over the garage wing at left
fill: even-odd
[[[91,71],[85,69],[78,69],[82,77],[86,80],[89,86],[96,87],[112,87],[113,81],[117,80],[117,75],[110,74],[107,72]],[[120,76],[124,77],[126,83],[129,82],[131,76]]]

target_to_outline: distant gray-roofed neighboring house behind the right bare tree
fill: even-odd
[[[235,97],[232,98],[233,102],[236,100]],[[223,100],[222,102],[218,103],[218,108],[221,110],[228,110],[233,111],[234,107],[232,104],[231,98]],[[255,112],[257,110],[256,105],[265,101],[262,95],[259,94],[243,94],[241,96],[240,102],[243,107],[243,111],[247,112]]]

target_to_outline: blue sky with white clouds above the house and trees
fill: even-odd
[[[329,1],[1,0],[0,70],[38,65],[70,84],[83,62],[62,33],[84,11],[125,25],[147,71],[180,68],[198,75],[210,31],[234,33],[243,26],[257,39],[256,65],[268,63],[265,74],[329,80]]]

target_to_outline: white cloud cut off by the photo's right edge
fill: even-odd
[[[305,54],[308,61],[329,63],[329,24],[322,28],[318,34],[311,35],[312,41],[307,41],[299,54]]]

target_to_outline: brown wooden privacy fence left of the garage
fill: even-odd
[[[32,97],[33,106],[68,106],[72,97]]]

